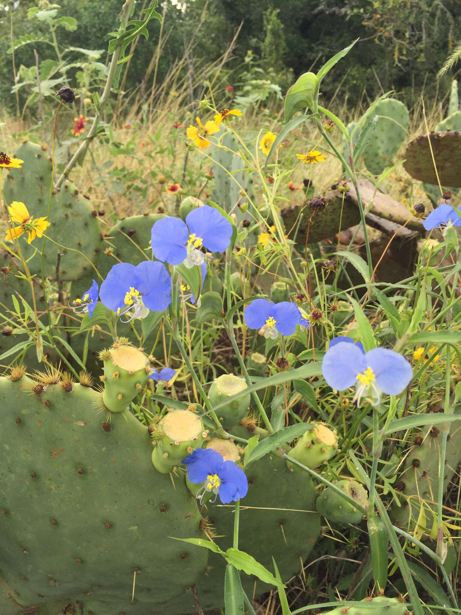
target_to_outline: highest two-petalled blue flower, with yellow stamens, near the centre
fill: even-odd
[[[186,222],[179,218],[162,218],[152,226],[151,247],[159,261],[170,265],[184,263],[191,268],[200,265],[210,252],[224,252],[230,244],[232,226],[214,207],[204,205],[192,210]]]

